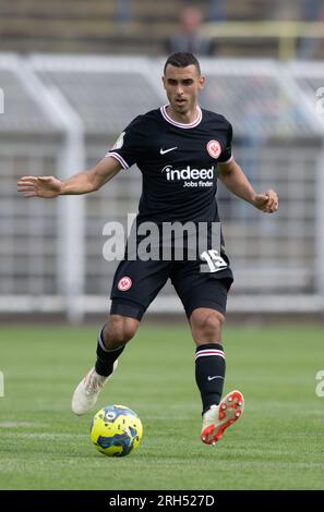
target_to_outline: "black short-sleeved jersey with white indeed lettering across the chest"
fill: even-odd
[[[197,109],[191,124],[173,121],[167,106],[135,118],[106,155],[142,172],[137,222],[219,221],[217,162],[231,159],[231,124]]]

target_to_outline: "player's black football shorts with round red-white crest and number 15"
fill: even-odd
[[[233,278],[225,253],[221,258],[226,268],[204,272],[201,260],[122,260],[113,278],[110,313],[141,320],[170,278],[188,318],[197,307],[208,307],[225,315]]]

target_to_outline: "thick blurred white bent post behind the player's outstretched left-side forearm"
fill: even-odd
[[[44,61],[45,59],[45,61]],[[46,58],[31,58],[21,70],[27,76],[31,94],[40,103],[51,122],[64,134],[58,158],[58,175],[69,178],[85,169],[83,122],[71,105],[52,85],[45,86],[35,71],[43,69]],[[58,288],[63,295],[63,309],[69,321],[76,324],[83,318],[84,292],[84,196],[65,196],[56,199],[59,216]]]

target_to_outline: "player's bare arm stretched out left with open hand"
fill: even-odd
[[[22,176],[17,182],[17,191],[25,197],[45,198],[87,194],[100,188],[120,169],[121,164],[116,158],[106,157],[88,171],[80,172],[68,180],[58,180],[55,176]]]

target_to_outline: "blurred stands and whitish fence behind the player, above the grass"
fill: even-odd
[[[164,105],[166,41],[188,5],[203,14],[200,35],[216,42],[201,57],[208,78],[201,103],[232,122],[236,158],[255,187],[272,186],[280,197],[278,215],[267,217],[220,187],[236,273],[229,312],[323,315],[323,1],[2,0],[3,318],[79,321],[109,310],[116,263],[103,257],[103,228],[136,211],[140,173],[59,200],[26,200],[15,182],[92,166],[133,117]],[[171,287],[151,312],[181,312]]]

